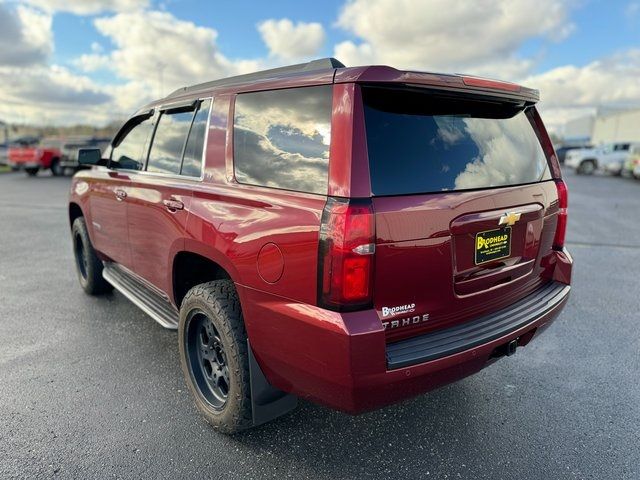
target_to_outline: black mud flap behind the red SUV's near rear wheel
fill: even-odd
[[[253,355],[248,339],[247,346],[249,347],[251,412],[253,425],[257,426],[289,413],[298,406],[298,398],[295,395],[278,390],[269,383]]]

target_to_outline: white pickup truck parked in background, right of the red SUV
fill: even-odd
[[[577,173],[591,175],[602,170],[612,175],[620,175],[622,165],[629,158],[632,142],[619,142],[595,148],[570,150],[566,154],[565,165]]]

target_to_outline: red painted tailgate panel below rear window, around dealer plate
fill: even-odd
[[[473,265],[474,233],[497,228],[499,217],[514,209],[525,212],[513,227],[515,256],[499,268],[495,263],[491,268]],[[545,281],[545,257],[553,255],[558,211],[553,181],[496,190],[379,197],[374,198],[374,210],[376,309],[380,313],[383,306],[415,303],[416,314],[429,313],[427,323],[389,330],[390,341],[505,307]]]

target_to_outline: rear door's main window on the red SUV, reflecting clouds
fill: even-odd
[[[182,149],[192,119],[193,110],[162,112],[149,151],[148,172],[180,173]]]

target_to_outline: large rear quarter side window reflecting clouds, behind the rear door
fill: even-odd
[[[239,94],[233,129],[238,182],[326,194],[331,103],[330,85]]]

